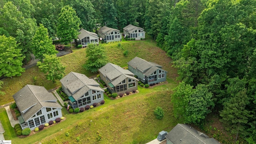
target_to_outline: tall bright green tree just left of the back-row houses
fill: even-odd
[[[80,24],[81,21],[76,15],[76,11],[68,5],[64,6],[59,14],[57,26],[57,35],[61,38],[60,41],[69,43],[76,39]]]

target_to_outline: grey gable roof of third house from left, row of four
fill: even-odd
[[[114,86],[122,82],[127,77],[138,80],[129,70],[125,70],[120,66],[112,63],[107,63],[105,66],[99,69],[99,72],[102,73],[104,76],[108,77],[108,79]]]

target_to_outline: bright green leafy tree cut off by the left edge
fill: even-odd
[[[23,58],[15,38],[0,36],[0,76],[21,76]]]

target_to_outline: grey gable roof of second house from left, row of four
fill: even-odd
[[[84,95],[88,90],[99,90],[103,91],[94,79],[88,78],[84,74],[77,72],[70,72],[60,82],[68,89],[73,98],[77,100]]]

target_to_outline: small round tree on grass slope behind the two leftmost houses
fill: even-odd
[[[62,79],[65,74],[65,67],[62,66],[60,58],[55,54],[44,54],[44,61],[38,61],[37,66],[46,75],[46,79],[52,80],[52,82]]]

